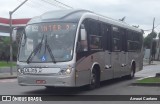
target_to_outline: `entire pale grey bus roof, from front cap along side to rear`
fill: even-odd
[[[40,16],[32,18],[28,24],[41,23],[41,22],[51,22],[51,21],[68,21],[68,22],[79,22],[83,15],[92,15],[99,18],[99,21],[104,21],[108,24],[119,26],[126,29],[131,29],[137,32],[143,32],[143,30],[135,28],[126,24],[125,22],[115,20],[109,17],[105,17],[88,10],[79,9],[68,9],[68,10],[56,10],[49,11]]]

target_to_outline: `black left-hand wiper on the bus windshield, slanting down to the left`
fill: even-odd
[[[31,54],[29,55],[28,59],[27,59],[27,63],[30,63],[31,60],[32,60],[32,57],[35,56],[38,52],[38,50],[41,49],[42,47],[42,42],[43,42],[43,39],[44,39],[44,34],[43,34],[43,37],[41,39],[41,42],[34,48],[34,50],[31,52]]]

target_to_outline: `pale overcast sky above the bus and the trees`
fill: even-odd
[[[0,17],[9,18],[24,0],[0,0]],[[139,26],[145,36],[151,32],[155,17],[155,31],[160,32],[160,0],[57,0],[73,9],[87,9],[113,19],[121,19],[129,25]],[[28,0],[14,14],[13,18],[32,18],[47,11],[69,9],[55,0]]]

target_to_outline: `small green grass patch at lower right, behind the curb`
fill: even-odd
[[[142,80],[137,80],[137,83],[160,83],[160,77],[144,78]]]

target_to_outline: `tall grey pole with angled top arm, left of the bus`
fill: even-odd
[[[9,11],[9,25],[10,25],[10,74],[13,75],[13,69],[12,69],[12,61],[13,61],[13,48],[12,48],[12,14],[19,9],[25,2],[28,0],[25,0],[22,2],[18,7],[16,7],[13,11]]]

